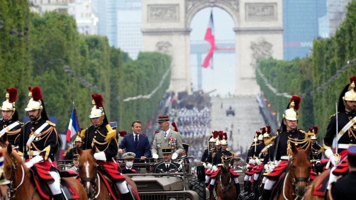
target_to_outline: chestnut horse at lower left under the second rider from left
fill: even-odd
[[[12,200],[42,200],[42,197],[36,189],[35,183],[31,180],[30,170],[26,167],[23,159],[12,151],[11,144],[7,144],[6,148],[2,148],[1,152],[4,156],[4,177],[11,180],[10,196]],[[65,179],[77,191],[80,198],[78,200],[87,200],[87,193],[83,186],[74,178]]]

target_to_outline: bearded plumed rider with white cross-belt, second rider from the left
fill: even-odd
[[[56,125],[48,120],[41,89],[36,86],[28,88],[31,98],[25,111],[30,122],[21,128],[18,154],[26,160],[26,167],[32,168],[41,180],[48,184],[54,200],[63,200],[60,177],[54,154],[61,148],[61,138],[58,137]]]

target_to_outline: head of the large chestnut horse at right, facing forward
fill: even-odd
[[[295,193],[298,196],[304,196],[307,190],[307,181],[310,174],[310,158],[309,153],[312,146],[310,143],[304,150],[296,147],[293,143],[291,145],[290,154],[292,155],[289,167],[289,174],[292,178],[292,184],[295,187]]]

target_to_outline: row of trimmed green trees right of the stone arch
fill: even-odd
[[[314,40],[311,56],[290,61],[263,59],[258,62],[258,69],[279,93],[302,96],[299,127],[319,126],[321,137],[325,135],[329,117],[335,114],[336,97],[349,83],[349,78],[356,75],[355,64],[347,64],[349,60],[356,59],[355,24],[354,0],[350,2],[346,19],[335,36]],[[256,74],[266,98],[282,117],[289,99],[274,94]]]

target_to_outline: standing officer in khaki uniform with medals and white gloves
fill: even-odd
[[[183,153],[182,137],[180,137],[179,132],[173,131],[169,127],[169,115],[158,116],[157,122],[162,131],[157,133],[155,140],[153,140],[151,148],[152,158],[162,158],[162,148],[171,148],[173,152],[172,160],[174,160],[178,155]]]

